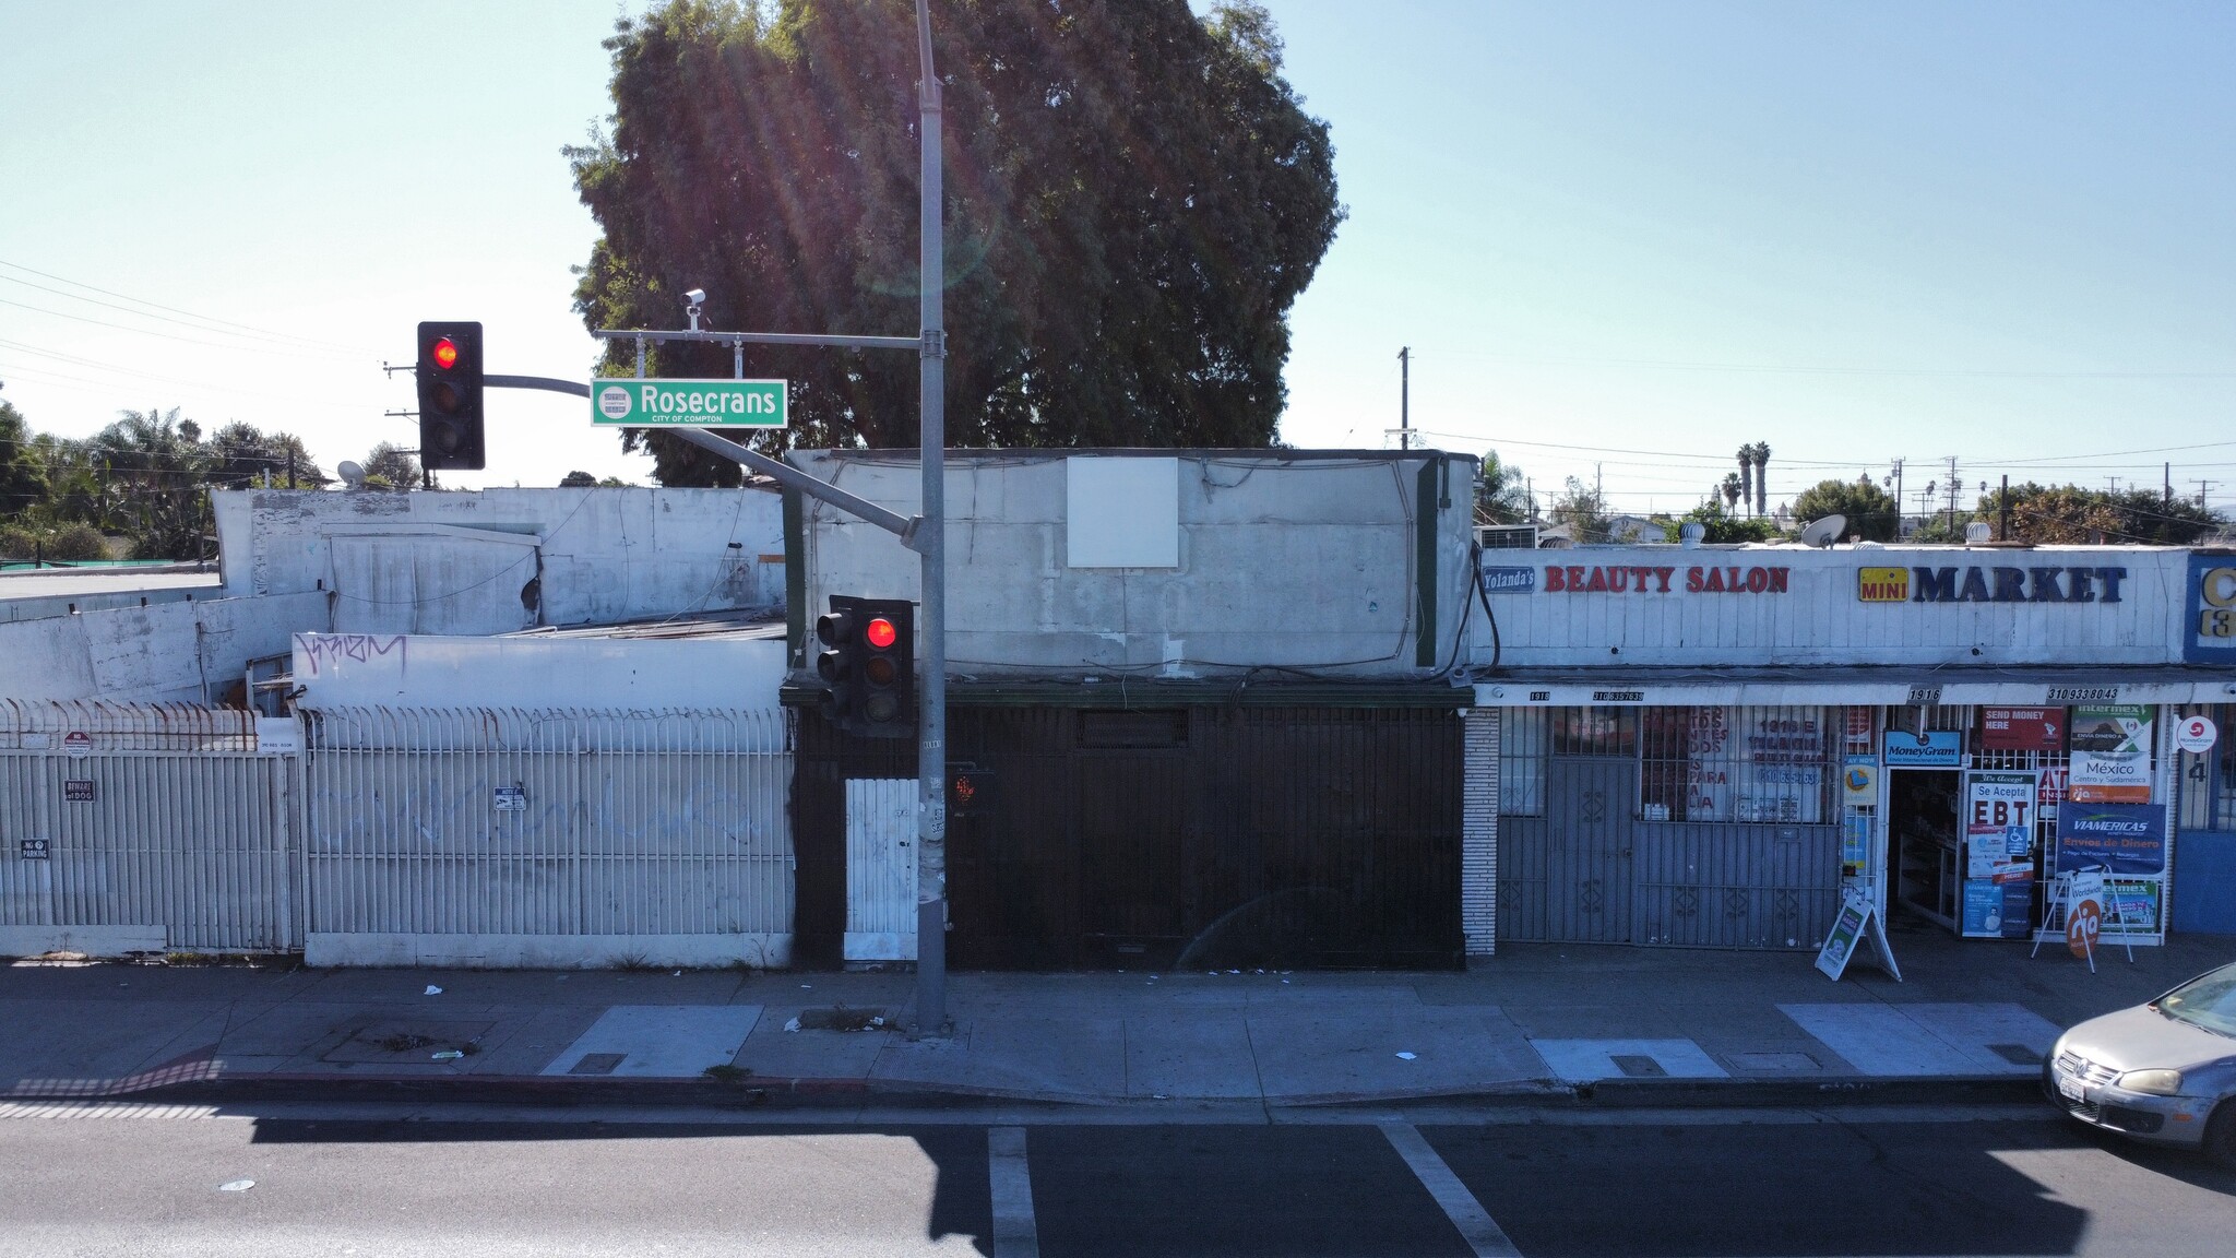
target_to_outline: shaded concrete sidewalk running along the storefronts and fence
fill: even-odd
[[[2075,1021],[2236,938],[2062,947],[1898,931],[1858,958],[1509,945],[1465,974],[0,967],[0,1097],[1062,1104],[2017,1095]],[[438,992],[429,992],[429,989]],[[879,1023],[879,1018],[883,1018]],[[845,1030],[863,1027],[863,1030]],[[713,1068],[713,1070],[709,1070]]]

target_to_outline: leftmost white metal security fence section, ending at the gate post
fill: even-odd
[[[300,947],[297,759],[266,745],[248,712],[0,703],[0,954]]]

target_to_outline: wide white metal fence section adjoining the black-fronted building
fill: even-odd
[[[785,712],[309,714],[313,963],[785,965]]]

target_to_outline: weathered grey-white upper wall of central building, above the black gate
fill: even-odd
[[[1174,497],[1098,499],[1096,517],[1078,519],[1069,459],[1174,466],[1160,475],[1178,481],[1178,562],[1073,566],[1084,528],[1163,537],[1174,522],[1160,504]],[[792,461],[901,515],[919,510],[915,452],[807,450]],[[1415,497],[1420,468],[1436,461],[1447,463],[1427,504],[1436,611],[1433,665],[1422,667]],[[1471,495],[1474,459],[1436,452],[953,452],[948,663],[982,676],[1429,676],[1451,663],[1467,616]],[[832,593],[921,598],[915,551],[836,508],[807,506],[803,562],[809,622]]]

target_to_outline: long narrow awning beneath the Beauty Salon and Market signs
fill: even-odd
[[[1476,707],[1778,707],[1789,703],[2236,703],[2236,669],[2191,667],[1793,667],[1512,669],[1476,680]]]

